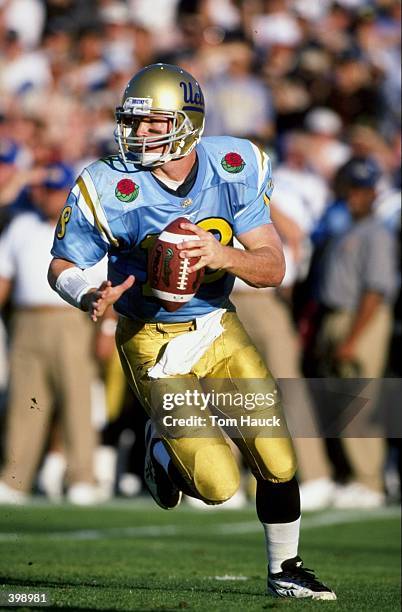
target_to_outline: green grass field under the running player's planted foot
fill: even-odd
[[[29,590],[49,594],[48,610],[400,610],[396,508],[305,515],[300,553],[337,592],[336,602],[265,595],[263,535],[252,507],[36,504],[0,507],[0,517],[3,602],[10,590]]]

